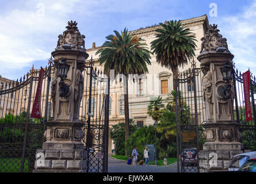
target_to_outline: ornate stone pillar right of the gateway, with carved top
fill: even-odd
[[[234,155],[241,153],[239,124],[234,120],[233,81],[223,80],[220,68],[232,67],[234,55],[228,51],[227,39],[217,25],[210,25],[203,37],[197,59],[204,76],[202,85],[207,110],[203,136],[206,140],[199,152],[200,172],[228,170]]]

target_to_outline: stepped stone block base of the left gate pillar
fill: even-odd
[[[86,160],[82,143],[43,143],[36,151],[33,173],[84,173]]]

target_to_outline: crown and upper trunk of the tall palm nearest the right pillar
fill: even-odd
[[[197,41],[189,28],[181,25],[181,21],[160,23],[162,28],[156,29],[156,39],[151,42],[152,53],[156,54],[156,62],[173,72],[173,88],[176,90],[178,66],[188,64],[193,59]]]

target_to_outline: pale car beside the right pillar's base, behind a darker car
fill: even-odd
[[[228,171],[238,171],[239,168],[242,167],[242,165],[249,159],[256,159],[256,151],[235,155],[231,160]]]

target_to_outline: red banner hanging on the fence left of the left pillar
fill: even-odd
[[[44,76],[44,69],[41,67],[40,73],[39,73],[39,81],[37,84],[36,89],[36,97],[33,104],[31,116],[33,118],[41,119],[41,91],[43,86],[43,76]]]

